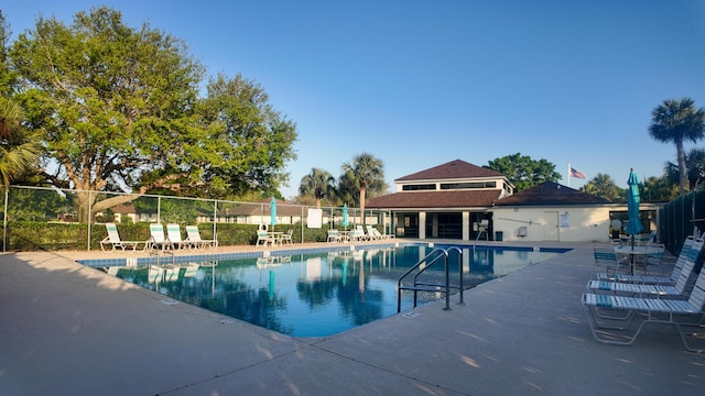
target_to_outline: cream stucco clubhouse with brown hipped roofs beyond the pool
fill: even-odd
[[[456,160],[394,180],[394,194],[367,208],[390,210],[399,237],[464,241],[608,241],[626,202],[609,202],[553,182],[513,194],[503,175]],[[644,232],[657,229],[658,205],[642,204]],[[623,227],[620,227],[623,228]]]

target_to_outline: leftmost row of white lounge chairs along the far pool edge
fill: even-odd
[[[117,251],[118,249],[124,251],[134,252],[140,245],[143,245],[143,250],[152,251],[159,249],[162,251],[172,250],[177,251],[182,249],[189,250],[203,250],[206,246],[210,249],[218,248],[218,240],[204,240],[200,238],[200,232],[197,226],[186,226],[186,238],[182,239],[181,226],[176,223],[166,224],[166,233],[164,233],[164,226],[160,223],[150,224],[150,239],[147,241],[123,241],[118,233],[118,227],[115,223],[106,223],[108,237],[100,241],[100,250],[106,251],[107,246],[110,246],[110,251]]]

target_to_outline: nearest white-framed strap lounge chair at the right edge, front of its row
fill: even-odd
[[[634,342],[641,329],[647,323],[673,324],[685,349],[692,352],[703,352],[703,348],[692,346],[683,332],[683,327],[696,327],[702,333],[701,324],[705,318],[705,272],[701,274],[693,286],[688,299],[661,299],[621,297],[604,294],[586,293],[583,295],[587,321],[595,340],[607,344],[630,345]],[[606,317],[600,312],[607,310],[612,314],[623,314],[622,317]],[[642,315],[637,315],[642,314]],[[630,330],[634,318],[643,319],[636,330]],[[611,331],[609,331],[611,330]]]

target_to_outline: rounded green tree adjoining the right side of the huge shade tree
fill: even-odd
[[[248,191],[279,197],[278,187],[289,176],[282,169],[296,158],[296,124],[274,110],[260,85],[241,75],[218,75],[207,94],[198,107],[205,134],[186,153],[196,165],[191,175],[207,182],[216,197]]]

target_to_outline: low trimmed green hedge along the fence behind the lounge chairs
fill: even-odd
[[[123,241],[147,241],[150,238],[150,223],[118,223],[118,233]],[[292,240],[301,242],[301,224],[281,224],[276,231],[294,230]],[[304,228],[305,242],[325,242],[327,228]],[[213,239],[213,223],[198,224],[203,239]],[[13,221],[8,223],[8,251],[56,251],[87,250],[88,226],[66,222]],[[253,245],[257,241],[256,224],[218,223],[218,244],[220,246]],[[93,224],[90,249],[99,250],[100,241],[108,232],[104,224]],[[182,238],[186,238],[186,228],[182,224]]]

